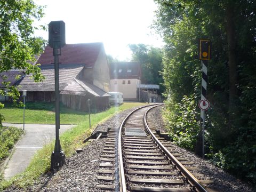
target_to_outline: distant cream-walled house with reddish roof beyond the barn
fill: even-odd
[[[125,101],[139,100],[140,77],[139,62],[110,63],[110,90],[122,92]]]

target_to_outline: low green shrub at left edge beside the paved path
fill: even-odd
[[[9,150],[12,149],[15,142],[18,141],[22,132],[22,130],[16,127],[0,128],[0,161],[9,156]]]

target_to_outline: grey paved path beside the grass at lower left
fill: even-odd
[[[23,124],[3,123],[3,126],[15,126],[23,129]],[[60,125],[60,133],[74,125]],[[29,165],[36,150],[55,139],[55,125],[25,124],[25,135],[20,139],[4,170],[4,179],[10,179]],[[51,154],[49,154],[51,155]]]

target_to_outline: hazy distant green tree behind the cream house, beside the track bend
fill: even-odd
[[[129,47],[133,52],[132,61],[140,63],[142,70],[141,82],[160,85],[160,93],[163,93],[162,49],[145,44],[130,44]]]

